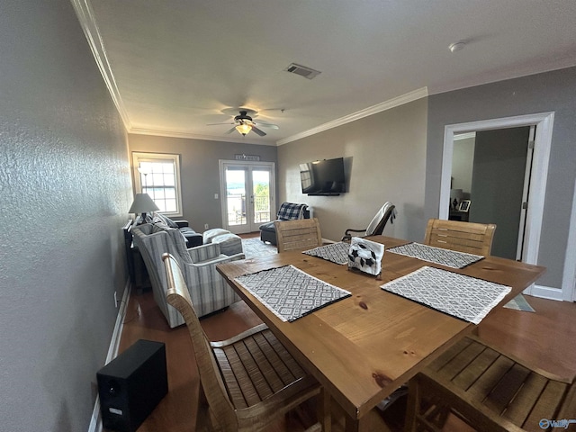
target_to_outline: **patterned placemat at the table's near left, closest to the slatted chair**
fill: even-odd
[[[275,267],[235,280],[283,321],[298,320],[351,295],[294,266]]]

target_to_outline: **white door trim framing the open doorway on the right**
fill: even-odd
[[[538,260],[542,220],[544,217],[546,180],[548,178],[548,164],[550,160],[550,148],[552,146],[554,112],[540,112],[501,119],[446,125],[444,130],[444,153],[442,156],[440,204],[438,209],[438,217],[440,219],[448,219],[448,206],[443,205],[443,203],[450,201],[450,177],[452,173],[455,134],[477,130],[509,129],[533,125],[536,125],[533,155],[534,166],[532,168],[530,182],[530,196],[528,197],[526,247],[523,257],[523,261],[528,264],[536,264]],[[525,293],[532,293],[532,288],[525,291]]]

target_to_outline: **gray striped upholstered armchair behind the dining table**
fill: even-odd
[[[221,255],[218,244],[187,249],[178,229],[160,223],[138,225],[132,229],[132,235],[148,270],[154,300],[170,328],[184,324],[184,319],[180,312],[166,303],[166,274],[162,263],[162,255],[166,252],[174,256],[182,268],[194,310],[199,317],[240,300],[216,271],[216,265],[244,259],[243,253],[229,257]]]

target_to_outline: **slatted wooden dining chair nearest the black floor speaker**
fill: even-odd
[[[200,375],[194,430],[264,430],[302,402],[317,397],[319,421],[307,430],[324,427],[329,431],[329,396],[266,325],[224,341],[209,341],[175,257],[166,253],[162,259],[168,284],[166,301],[184,316]]]

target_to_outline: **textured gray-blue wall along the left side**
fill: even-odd
[[[0,10],[0,429],[76,432],[127,280],[127,139],[71,4]]]

